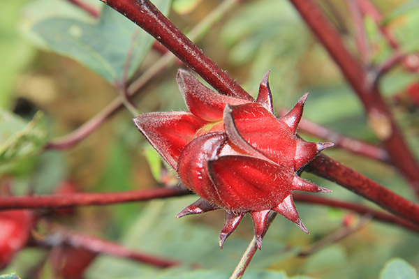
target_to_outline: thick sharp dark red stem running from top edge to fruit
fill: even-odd
[[[148,0],[103,0],[159,40],[170,52],[209,82],[216,91],[253,100],[235,80],[186,38],[167,17]]]

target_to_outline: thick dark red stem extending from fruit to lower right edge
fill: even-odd
[[[341,165],[328,156],[320,154],[309,163],[307,170],[338,183],[340,186],[369,199],[400,218],[419,225],[418,205],[384,188],[368,177],[355,172],[353,169]]]

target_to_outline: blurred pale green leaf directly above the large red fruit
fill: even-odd
[[[233,64],[251,64],[244,88],[253,95],[271,70],[272,94],[279,102],[280,94],[292,94],[297,86],[300,76],[293,69],[309,47],[307,28],[288,1],[251,1],[240,7],[223,26],[221,40],[230,47]]]

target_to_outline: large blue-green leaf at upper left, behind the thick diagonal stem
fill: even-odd
[[[154,1],[163,12],[169,0]],[[103,6],[98,22],[64,17],[41,20],[32,28],[52,50],[91,68],[108,82],[122,82],[128,60],[128,78],[144,59],[153,38],[123,15]]]

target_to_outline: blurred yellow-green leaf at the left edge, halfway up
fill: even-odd
[[[43,113],[27,123],[20,117],[0,110],[0,172],[6,163],[15,163],[40,151],[47,142]]]

